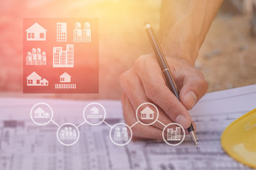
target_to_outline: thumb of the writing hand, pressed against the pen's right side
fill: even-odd
[[[180,101],[191,110],[196,102],[207,92],[207,82],[202,75],[186,75],[180,90]]]

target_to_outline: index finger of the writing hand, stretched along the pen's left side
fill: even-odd
[[[156,103],[174,122],[188,128],[191,117],[177,97],[168,89],[163,79],[161,69],[154,56],[142,56],[134,64],[135,71],[145,89],[145,95]]]

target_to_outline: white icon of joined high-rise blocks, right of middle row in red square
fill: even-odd
[[[65,51],[53,47],[53,67],[74,67],[74,45],[67,45]]]

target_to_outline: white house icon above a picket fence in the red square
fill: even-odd
[[[64,72],[60,75],[60,83],[55,84],[55,89],[76,89],[76,83],[71,83],[71,76]]]

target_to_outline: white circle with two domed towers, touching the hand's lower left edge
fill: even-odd
[[[109,131],[109,138],[117,146],[127,145],[132,139],[132,129],[124,123],[115,124]]]

